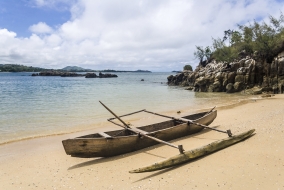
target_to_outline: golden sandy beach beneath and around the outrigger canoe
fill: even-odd
[[[226,108],[217,105],[217,110],[210,126],[231,129],[233,134],[254,128],[256,135],[194,162],[141,174],[128,171],[176,155],[178,150],[156,145],[111,158],[65,154],[62,140],[117,129],[112,125],[4,144],[0,146],[0,189],[284,189],[284,95]],[[140,125],[155,120],[143,118],[148,120],[129,122]],[[226,137],[203,130],[171,142],[190,150]]]

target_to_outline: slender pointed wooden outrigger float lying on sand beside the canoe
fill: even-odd
[[[250,137],[255,129],[251,129],[247,132],[240,133],[238,135],[234,135],[233,137],[228,137],[222,140],[215,141],[213,143],[210,143],[208,145],[205,145],[203,147],[186,151],[183,154],[179,154],[173,157],[170,157],[164,161],[157,162],[153,165],[146,166],[143,168],[139,168],[136,170],[129,171],[129,173],[142,173],[142,172],[151,172],[156,170],[161,170],[165,168],[169,168],[178,164],[182,164],[185,162],[192,161],[198,157],[208,155],[210,153],[213,153],[215,151],[221,150],[223,148],[226,148],[228,146],[231,146],[237,142],[240,142],[248,137]]]

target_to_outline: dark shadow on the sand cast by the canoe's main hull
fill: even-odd
[[[219,127],[219,125],[214,126],[212,128],[218,128],[218,127]],[[195,133],[195,134],[188,135],[188,136],[185,136],[185,137],[177,138],[177,139],[172,140],[171,142],[174,143],[176,141],[180,141],[180,140],[184,140],[184,139],[187,139],[187,138],[196,137],[196,136],[199,136],[201,134],[207,133],[209,131],[211,131],[211,130],[210,129],[203,129],[199,133]],[[218,140],[218,139],[212,139],[212,140]],[[134,152],[130,152],[130,153],[127,153],[127,154],[122,154],[122,155],[119,155],[119,156],[113,156],[113,157],[108,157],[108,158],[94,158],[93,160],[89,160],[89,161],[82,162],[80,164],[76,164],[74,166],[71,166],[67,170],[73,170],[73,169],[76,169],[76,168],[82,168],[82,167],[86,167],[86,166],[90,166],[90,165],[117,161],[117,160],[129,157],[129,156],[133,156],[133,155],[138,154],[138,153],[145,153],[145,154],[149,154],[149,155],[152,155],[152,156],[156,156],[156,157],[165,159],[166,157],[163,157],[163,156],[160,156],[160,155],[156,155],[156,154],[152,154],[152,153],[147,152],[147,151],[153,150],[155,148],[159,148],[161,146],[164,146],[164,145],[163,144],[156,144],[156,145],[151,146],[151,147],[147,147],[147,148],[144,148],[144,149],[141,149],[141,150],[137,150],[137,151],[134,151]]]

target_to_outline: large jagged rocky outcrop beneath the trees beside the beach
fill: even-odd
[[[245,57],[232,63],[212,61],[195,71],[183,71],[168,76],[168,85],[192,87],[197,92],[284,91],[284,52],[272,63]],[[255,88],[257,87],[258,90]],[[260,91],[259,91],[260,89]]]

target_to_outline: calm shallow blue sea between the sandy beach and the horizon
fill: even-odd
[[[246,98],[167,86],[167,76],[174,73],[116,73],[118,78],[101,79],[31,74],[0,73],[0,144],[95,128],[112,117],[99,100],[122,115],[210,108]]]

